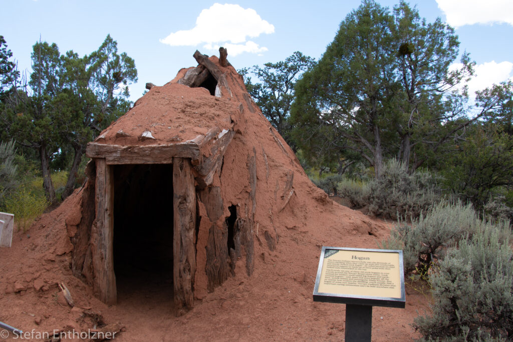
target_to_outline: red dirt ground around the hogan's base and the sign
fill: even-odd
[[[277,249],[260,253],[251,277],[236,273],[203,300],[196,300],[194,309],[182,317],[173,313],[172,285],[154,284],[151,278],[142,278],[131,293],[119,287],[117,305],[108,307],[94,298],[91,289],[71,275],[67,236],[52,226],[55,217],[65,215],[61,206],[26,233],[16,232],[12,247],[0,250],[0,320],[23,331],[87,331],[93,323],[82,317],[77,309],[82,308],[101,312],[106,324],[124,325],[125,331],[116,334],[119,341],[343,340],[345,305],[312,300],[320,248],[376,248],[389,228],[381,220],[333,206],[340,210],[336,226],[361,220],[375,228],[376,236],[356,226],[349,231],[336,229],[323,222],[320,213],[317,227],[287,229]],[[58,281],[68,286],[74,309],[66,304]],[[406,293],[405,309],[373,308],[372,340],[419,337],[410,324],[417,312],[429,310],[428,299],[408,286]]]

